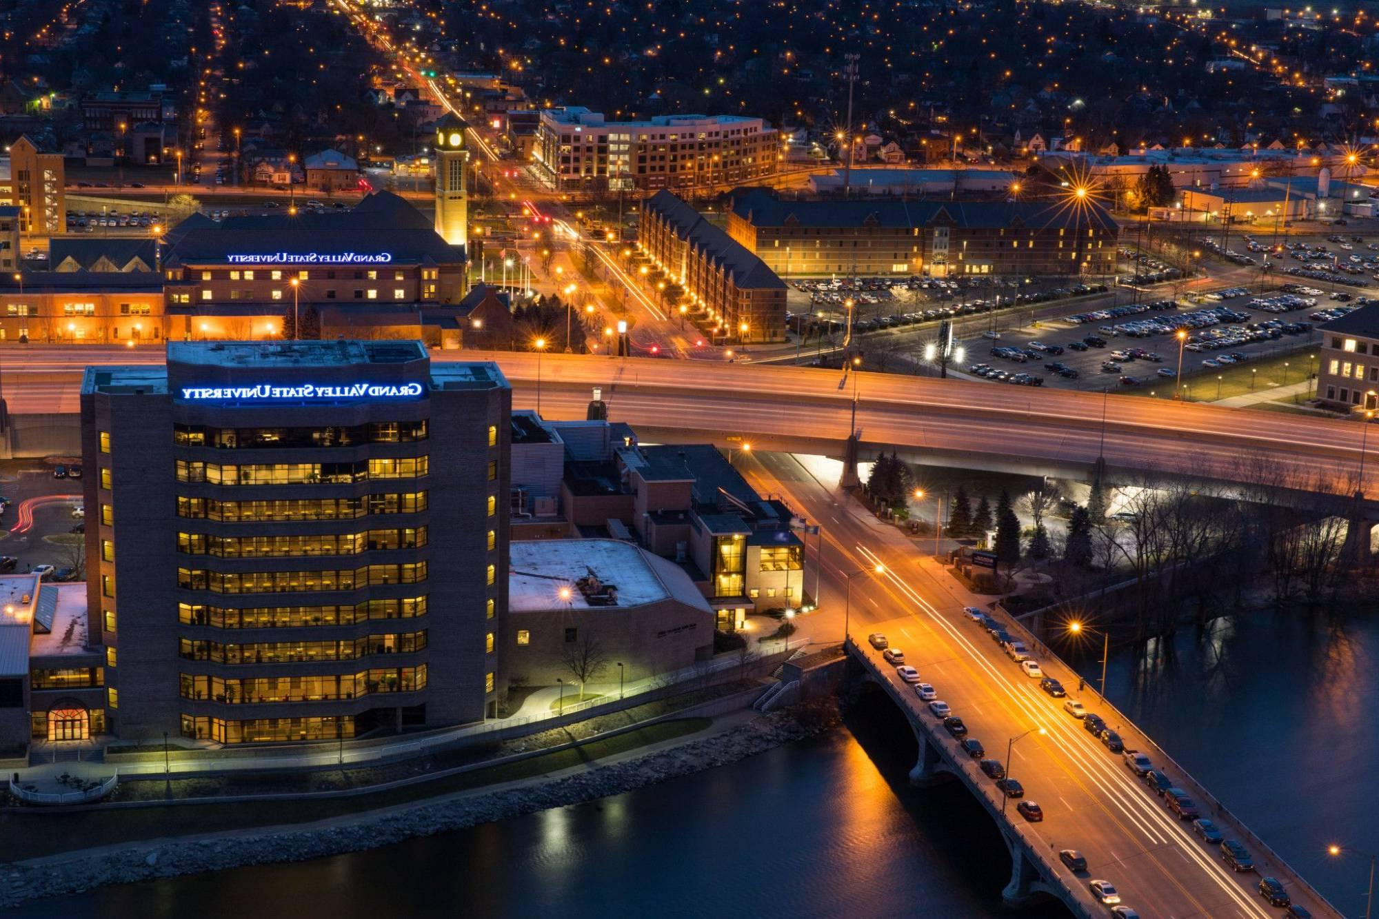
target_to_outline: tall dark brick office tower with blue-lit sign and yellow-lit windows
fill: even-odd
[[[109,730],[327,740],[495,712],[512,389],[410,341],[186,342],[81,388]]]

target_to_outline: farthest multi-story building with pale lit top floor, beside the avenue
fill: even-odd
[[[752,182],[776,171],[779,135],[761,119],[665,115],[604,121],[581,106],[543,109],[532,161],[560,190],[630,192]]]

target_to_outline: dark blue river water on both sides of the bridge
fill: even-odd
[[[1361,798],[1379,737],[1379,624],[1263,614],[1113,654],[1111,700],[1345,912],[1379,851]],[[1099,676],[1089,654],[1081,669]],[[913,789],[884,697],[844,727],[732,766],[502,824],[291,865],[32,904],[18,916],[1005,916],[994,824],[963,789]],[[1060,905],[1020,913],[1066,916]]]

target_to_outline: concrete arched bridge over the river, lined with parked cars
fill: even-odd
[[[1267,875],[1281,880],[1292,901],[1314,916],[1340,915],[1123,713],[1094,693],[1078,691],[1070,668],[1016,624],[1003,625],[1029,646],[1045,673],[1067,687],[1069,698],[1077,697],[1120,734],[1127,748],[1146,753],[1154,769],[1167,771],[1201,816],[1215,821],[1226,839],[1240,840],[1256,865],[1256,871],[1231,871],[1218,844],[1200,839],[1191,822],[1171,811],[1168,798],[1151,791],[1123,755],[1110,752],[1081,720],[1065,712],[1065,698],[1041,691],[1040,680],[1027,678],[965,614],[939,615],[935,626],[945,640],[934,644],[920,640],[913,617],[866,626],[887,633],[894,646],[903,644],[920,679],[932,683],[953,715],[963,719],[967,737],[986,748],[982,758],[969,755],[865,635],[852,635],[845,643],[844,693],[876,687],[905,713],[914,733],[918,758],[910,781],[960,781],[996,821],[1011,853],[1011,878],[1001,891],[1007,905],[1054,897],[1074,916],[1106,916],[1109,907],[1088,887],[1092,879],[1102,879],[1116,886],[1123,905],[1146,918],[1265,919],[1278,915],[1256,890],[1260,876]],[[1023,785],[1023,798],[1007,799],[982,771],[983,758],[1008,769]],[[1044,820],[1027,821],[1016,810],[1022,800],[1037,802]],[[1087,871],[1074,872],[1065,864],[1059,858],[1065,849],[1081,853]]]

